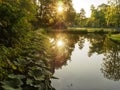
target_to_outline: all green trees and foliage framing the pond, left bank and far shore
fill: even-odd
[[[62,6],[62,14],[57,11]],[[120,28],[120,0],[110,0],[91,17],[76,13],[72,0],[0,0],[0,90],[53,90],[49,39],[39,28]]]

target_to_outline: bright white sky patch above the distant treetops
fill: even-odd
[[[99,6],[102,3],[107,4],[108,0],[72,0],[73,7],[76,10],[76,12],[80,12],[81,8],[84,8],[86,12],[86,16],[90,17],[91,11],[90,6],[93,4],[95,7]]]

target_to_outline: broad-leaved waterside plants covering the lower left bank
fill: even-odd
[[[6,48],[1,46],[0,69],[2,88],[5,90],[50,90],[50,77],[47,62],[50,61],[50,44],[46,36],[38,32],[29,34],[23,47]],[[20,50],[19,50],[20,49]],[[19,50],[19,51],[18,51]],[[4,75],[4,76],[3,76]],[[29,89],[28,89],[29,88]]]

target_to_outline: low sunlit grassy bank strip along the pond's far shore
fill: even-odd
[[[61,33],[97,33],[97,34],[117,34],[120,31],[117,31],[114,28],[67,28],[67,29],[47,29],[48,32],[61,32]]]

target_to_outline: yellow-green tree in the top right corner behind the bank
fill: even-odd
[[[106,21],[110,27],[120,27],[120,0],[109,0],[107,8]]]

